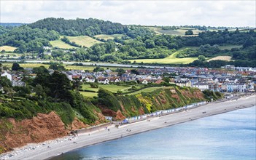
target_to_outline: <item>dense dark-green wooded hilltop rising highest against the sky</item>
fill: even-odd
[[[97,34],[125,33],[127,31],[127,27],[120,23],[112,23],[94,18],[65,20],[63,18],[49,17],[38,20],[28,26],[40,29],[47,28],[47,30],[58,31],[61,35],[66,36],[94,36]]]

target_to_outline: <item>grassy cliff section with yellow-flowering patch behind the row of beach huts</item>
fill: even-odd
[[[179,108],[204,100],[203,93],[199,89],[181,87],[166,87],[137,95],[115,96],[109,92],[104,92],[102,95],[106,98],[99,99],[98,107],[104,115],[112,116],[117,120],[169,108]]]

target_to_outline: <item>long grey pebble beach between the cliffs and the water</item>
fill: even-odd
[[[111,127],[108,127],[109,130],[100,129],[94,132],[79,134],[77,137],[66,136],[35,145],[28,144],[24,147],[16,148],[15,151],[9,152],[9,155],[13,154],[12,157],[8,158],[7,156],[0,156],[0,159],[50,159],[54,156],[60,155],[61,153],[73,151],[78,148],[104,143],[109,140],[116,140],[121,137],[136,135],[153,129],[181,124],[186,121],[193,121],[206,116],[213,116],[220,113],[249,108],[255,105],[256,95],[241,97],[238,100],[229,100],[221,103],[209,103],[196,108],[190,108],[187,111],[180,111],[165,116],[154,117],[150,119],[150,121],[138,121],[136,123],[120,126],[119,128],[112,125]],[[127,129],[131,129],[131,131],[127,131]],[[32,147],[29,148],[29,146]],[[5,154],[7,155],[7,153]]]

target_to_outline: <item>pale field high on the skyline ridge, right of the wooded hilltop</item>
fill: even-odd
[[[162,28],[158,27],[149,27],[151,31],[154,31],[157,34],[167,34],[167,35],[173,35],[173,36],[185,36],[185,32],[187,30],[192,30],[194,35],[191,36],[196,36],[198,33],[201,33],[202,31],[199,31],[195,28],[181,28],[177,30],[162,30]]]

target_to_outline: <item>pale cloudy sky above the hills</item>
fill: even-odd
[[[46,17],[93,17],[124,25],[256,27],[256,0],[0,0],[0,7],[1,23],[34,23]]]

